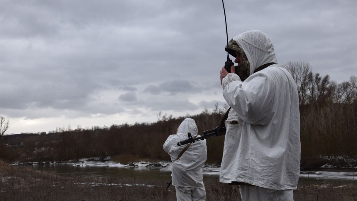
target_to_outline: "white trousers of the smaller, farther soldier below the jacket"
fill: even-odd
[[[177,201],[204,201],[206,200],[205,187],[183,187],[175,186]]]

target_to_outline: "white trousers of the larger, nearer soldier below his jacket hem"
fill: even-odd
[[[239,185],[242,201],[294,201],[293,190],[276,191],[268,188]]]

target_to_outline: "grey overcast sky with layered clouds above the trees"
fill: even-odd
[[[225,0],[228,38],[261,30],[279,63],[307,61],[341,83],[357,75],[356,2]],[[7,133],[223,108],[225,31],[220,0],[0,0]]]

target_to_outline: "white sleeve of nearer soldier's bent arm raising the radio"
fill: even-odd
[[[225,83],[223,97],[228,105],[243,121],[264,125],[270,116],[275,94],[273,81],[261,72],[251,75],[245,82],[234,81],[235,76],[230,74],[222,80],[222,85]]]

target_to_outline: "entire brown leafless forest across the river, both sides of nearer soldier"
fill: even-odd
[[[309,63],[286,64],[296,81],[300,99],[301,157],[357,155],[357,78],[337,84],[312,73]],[[0,158],[14,162],[67,161],[111,156],[119,161],[165,160],[162,145],[184,118],[195,119],[198,133],[218,126],[228,106],[200,114],[172,117],[160,112],[155,123],[56,129],[49,133],[3,136]],[[207,163],[221,163],[224,136],[207,140]]]

